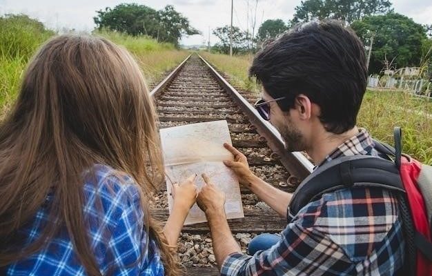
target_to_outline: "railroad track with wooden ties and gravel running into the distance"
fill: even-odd
[[[288,192],[308,173],[312,165],[299,154],[283,150],[277,132],[262,120],[251,106],[255,97],[240,95],[211,66],[192,55],[151,92],[159,113],[159,128],[203,121],[228,121],[233,146],[248,157],[255,175]],[[228,221],[237,242],[246,252],[251,238],[259,233],[277,233],[286,219],[242,188],[243,219]],[[168,217],[166,190],[161,190],[150,204],[161,221]],[[206,224],[185,226],[179,243],[179,259],[186,275],[219,275]]]

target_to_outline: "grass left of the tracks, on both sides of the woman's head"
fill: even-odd
[[[147,83],[158,81],[164,72],[186,58],[188,52],[148,37],[118,32],[95,32],[128,49],[139,63]],[[26,15],[0,17],[0,119],[10,110],[19,91],[24,70],[37,49],[55,32]]]

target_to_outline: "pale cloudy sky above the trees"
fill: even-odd
[[[431,0],[391,1],[395,12],[411,17],[417,23],[432,24]],[[255,2],[255,0],[233,0],[234,26],[242,30],[248,28],[249,32],[252,32]],[[292,19],[294,8],[300,2],[301,0],[258,0],[255,32],[266,19],[284,21]],[[139,3],[156,10],[166,5],[173,5],[177,12],[181,12],[189,19],[191,26],[202,32],[202,34],[181,39],[181,44],[184,45],[207,43],[209,33],[210,44],[213,45],[217,42],[217,37],[211,34],[213,29],[230,24],[230,0],[0,0],[0,14],[24,13],[39,19],[53,30],[75,28],[75,30],[90,32],[95,28],[93,17],[97,15],[96,11],[106,7],[113,8],[119,3]]]

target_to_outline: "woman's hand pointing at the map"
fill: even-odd
[[[197,175],[191,175],[181,184],[173,184],[173,210],[181,210],[185,217],[197,200]]]

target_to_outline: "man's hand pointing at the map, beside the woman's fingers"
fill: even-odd
[[[224,215],[225,214],[225,194],[219,190],[215,184],[210,181],[210,178],[203,173],[202,178],[206,182],[201,188],[197,197],[197,204],[201,208],[209,219],[209,216],[213,214]]]

